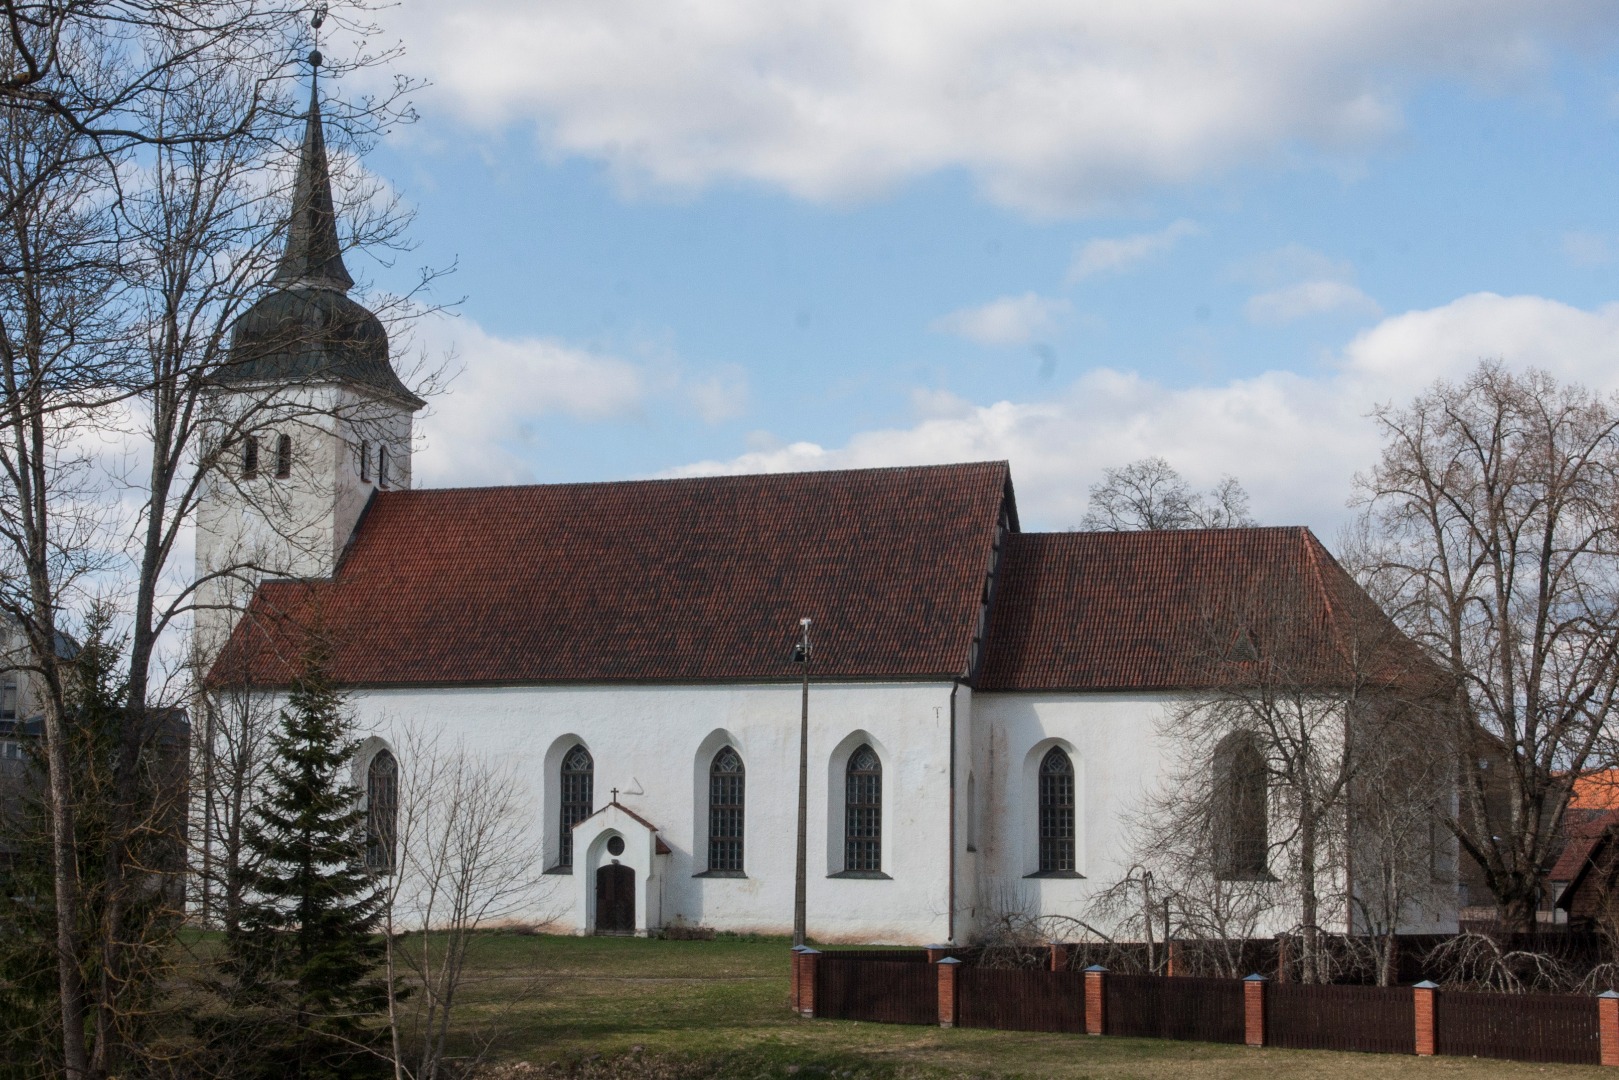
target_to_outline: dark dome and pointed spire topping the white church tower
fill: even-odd
[[[348,298],[353,283],[337,238],[321,105],[311,86],[287,246],[270,291],[236,319],[230,358],[217,379],[254,385],[346,382],[421,408],[423,400],[389,363],[382,321]]]

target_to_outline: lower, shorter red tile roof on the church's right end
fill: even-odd
[[[1022,533],[997,588],[979,690],[1242,683],[1268,640],[1311,685],[1431,677],[1305,528]]]

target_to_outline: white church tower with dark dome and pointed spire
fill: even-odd
[[[321,55],[311,63],[319,71]],[[424,402],[343,266],[316,79],[291,217],[269,291],[214,374],[198,505],[198,648],[212,654],[264,578],[325,578],[377,491],[410,487]]]

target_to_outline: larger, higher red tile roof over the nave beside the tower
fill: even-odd
[[[947,678],[1010,492],[1005,461],[380,492],[214,678],[285,683],[311,622],[342,685],[795,678],[805,615],[818,677]]]

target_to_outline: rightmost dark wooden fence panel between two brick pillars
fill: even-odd
[[[1457,1057],[1600,1065],[1596,999],[1574,994],[1468,994],[1434,1001],[1434,1049]]]

